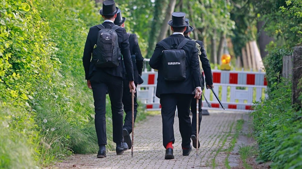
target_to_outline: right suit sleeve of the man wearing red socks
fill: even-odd
[[[196,45],[194,45],[194,49],[191,56],[191,68],[194,80],[194,87],[201,87],[201,75],[198,60],[198,50],[196,48]]]

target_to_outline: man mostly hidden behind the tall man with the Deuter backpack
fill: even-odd
[[[126,21],[126,18],[122,17],[121,12],[117,13],[117,17],[115,18],[114,24],[124,27],[124,22]],[[131,59],[133,64],[133,73],[134,73],[134,84],[137,86],[137,84],[142,84],[143,79],[140,77],[143,72],[143,62],[144,58],[142,56],[142,53],[140,52],[140,46],[138,45],[137,35],[127,33],[129,36],[129,48],[131,53]],[[127,76],[127,75],[126,75]],[[123,126],[123,136],[124,136],[124,142],[127,143],[129,149],[131,148],[132,142],[130,138],[130,133],[132,132],[132,101],[131,101],[131,94],[129,94],[129,80],[124,78],[124,93],[123,93],[123,105],[124,105],[124,111],[126,113],[125,116],[125,123]],[[137,93],[134,94],[134,122],[137,115]]]

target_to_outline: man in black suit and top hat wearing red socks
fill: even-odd
[[[162,136],[163,146],[166,148],[165,159],[172,159],[174,158],[172,144],[175,141],[173,123],[176,107],[178,110],[179,130],[182,136],[182,155],[189,155],[192,150],[190,140],[192,129],[189,116],[191,97],[195,94],[194,98],[199,99],[202,91],[198,50],[194,41],[188,40],[181,48],[185,51],[186,55],[185,79],[182,81],[165,80],[164,73],[166,72],[163,72],[163,66],[166,66],[166,63],[163,65],[162,52],[166,49],[164,46],[178,46],[185,40],[183,32],[186,30],[186,26],[188,26],[188,23],[185,22],[185,13],[173,12],[172,20],[168,24],[174,33],[156,44],[149,65],[153,69],[158,70],[156,96],[160,98],[162,106]],[[168,63],[168,65],[170,64]]]

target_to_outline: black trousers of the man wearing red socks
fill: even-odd
[[[162,106],[162,138],[163,146],[169,142],[174,143],[174,116],[177,107],[179,131],[182,136],[182,147],[190,147],[191,137],[191,119],[190,119],[190,103],[191,94],[161,94],[160,104]]]

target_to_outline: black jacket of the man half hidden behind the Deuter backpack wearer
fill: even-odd
[[[140,52],[140,46],[138,44],[136,34],[131,33],[129,36],[129,49],[131,55],[135,55],[136,64],[133,65],[133,73],[134,73],[134,82],[137,84],[140,75],[142,75],[143,72],[144,58],[142,56],[142,53]],[[141,78],[140,81],[142,81]]]

